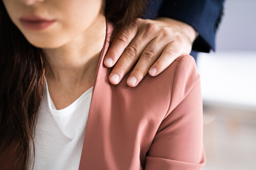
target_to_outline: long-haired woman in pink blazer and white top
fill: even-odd
[[[108,80],[103,58],[111,39],[138,22],[144,7],[143,1],[1,2],[1,169],[204,165],[200,80],[190,56],[135,88]]]

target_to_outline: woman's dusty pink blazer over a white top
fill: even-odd
[[[112,85],[103,65],[113,27],[106,27],[79,169],[201,169],[200,76],[189,55],[137,87]]]

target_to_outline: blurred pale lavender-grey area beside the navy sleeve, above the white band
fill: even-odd
[[[256,0],[226,0],[217,51],[256,51]]]

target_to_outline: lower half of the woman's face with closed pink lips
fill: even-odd
[[[3,0],[3,3],[27,40],[41,48],[60,47],[82,36],[97,17],[104,15],[102,0]]]

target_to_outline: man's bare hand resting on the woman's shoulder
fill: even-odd
[[[136,20],[135,26],[123,28],[106,53],[104,64],[114,68],[109,80],[118,84],[134,66],[127,85],[135,87],[147,74],[157,76],[176,58],[189,54],[197,31],[184,22],[160,17]]]

